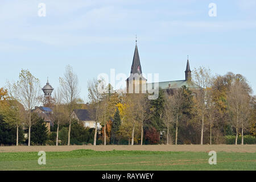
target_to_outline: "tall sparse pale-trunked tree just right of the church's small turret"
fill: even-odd
[[[201,144],[203,144],[204,138],[204,118],[205,113],[208,107],[208,100],[207,100],[207,92],[208,88],[212,84],[212,76],[210,73],[210,69],[206,69],[205,67],[199,67],[198,69],[194,69],[193,71],[193,81],[199,85],[203,92],[199,92],[197,98],[197,112],[201,116]]]

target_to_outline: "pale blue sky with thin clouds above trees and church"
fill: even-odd
[[[0,87],[29,69],[56,89],[71,65],[86,102],[88,80],[110,69],[129,76],[137,35],[143,73],[183,80],[189,55],[191,69],[240,73],[255,94],[254,0],[1,0],[0,24]]]

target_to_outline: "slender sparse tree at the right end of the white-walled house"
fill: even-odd
[[[93,139],[93,145],[96,146],[96,140],[97,140],[97,125],[99,121],[99,109],[100,109],[100,101],[102,98],[102,92],[104,91],[104,80],[100,79],[93,79],[88,81],[88,98],[90,105],[92,106],[92,109],[95,110],[93,112],[94,118],[95,118],[95,132],[94,132],[94,139]]]

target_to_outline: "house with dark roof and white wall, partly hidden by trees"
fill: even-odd
[[[95,128],[96,122],[94,119],[92,119],[94,110],[92,109],[74,109],[71,117],[73,119],[77,119],[77,121],[80,121],[83,123],[84,127],[89,128]],[[101,129],[100,123],[97,123],[97,130]]]

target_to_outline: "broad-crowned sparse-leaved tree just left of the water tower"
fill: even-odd
[[[9,84],[10,96],[20,102],[28,112],[28,146],[30,146],[31,111],[38,104],[40,96],[40,81],[28,69],[22,69],[19,80]]]

